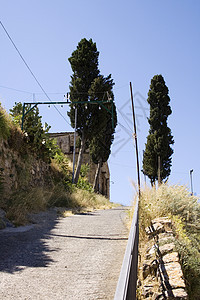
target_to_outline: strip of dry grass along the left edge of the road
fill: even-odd
[[[66,217],[77,212],[109,209],[115,204],[100,194],[77,188],[68,191],[63,184],[57,184],[51,191],[43,188],[18,191],[3,206],[7,212],[7,218],[19,226],[28,223],[29,213],[37,213],[51,206],[62,207],[61,215]]]

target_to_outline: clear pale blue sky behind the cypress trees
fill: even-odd
[[[142,160],[149,129],[146,99],[156,74],[165,79],[173,110],[168,123],[175,140],[169,182],[190,187],[193,169],[194,192],[200,194],[199,0],[0,0],[0,7],[2,23],[52,101],[62,101],[69,90],[68,58],[78,42],[96,42],[101,74],[111,73],[115,82],[119,121],[109,159],[112,201],[129,205],[134,193],[130,182],[137,178],[129,82]],[[2,105],[9,110],[15,101],[48,101],[2,27],[0,53]],[[58,109],[70,123],[66,107]],[[72,130],[53,107],[40,107],[40,113],[52,132]]]

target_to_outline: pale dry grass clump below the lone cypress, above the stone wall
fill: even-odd
[[[140,219],[143,228],[156,217],[171,215],[178,215],[185,222],[197,222],[200,217],[198,198],[191,196],[183,185],[162,184],[158,189],[146,187],[141,191]]]

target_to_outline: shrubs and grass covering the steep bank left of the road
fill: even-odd
[[[28,109],[28,108],[27,108]],[[25,168],[17,166],[20,185],[9,197],[3,191],[4,175],[0,169],[0,208],[16,225],[28,222],[31,212],[45,210],[52,206],[71,208],[74,211],[109,208],[107,198],[93,192],[87,180],[88,166],[82,165],[77,185],[71,183],[72,167],[69,159],[62,153],[56,141],[48,136],[49,126],[42,127],[38,108],[27,114],[24,132],[20,129],[22,104],[17,103],[11,110],[11,117],[0,106],[0,139],[6,141],[11,151],[14,150],[25,162]],[[49,186],[30,187],[28,172],[33,159],[43,160],[49,165]]]

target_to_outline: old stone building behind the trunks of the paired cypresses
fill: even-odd
[[[50,137],[57,140],[57,144],[61,148],[63,153],[67,155],[71,161],[73,161],[74,132],[50,133]],[[76,140],[78,141],[78,139],[79,137],[77,134]],[[76,163],[78,159],[79,148],[76,148],[75,153]],[[91,184],[93,184],[97,165],[92,162],[88,149],[83,154],[83,163],[89,164],[90,169],[88,180]],[[101,171],[99,174],[98,191],[107,198],[110,198],[110,172],[107,162],[103,163],[101,167]]]

